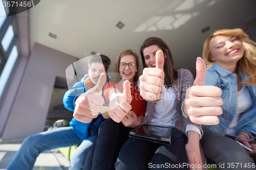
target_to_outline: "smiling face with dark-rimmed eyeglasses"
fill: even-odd
[[[129,68],[128,63],[136,63],[136,59],[133,55],[123,56],[119,63],[126,63],[125,68],[119,67],[119,73],[124,80],[129,80],[131,83],[134,83],[133,77],[137,72],[137,66],[134,68]],[[137,64],[137,63],[136,63]]]

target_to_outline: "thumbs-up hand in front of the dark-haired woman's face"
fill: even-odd
[[[164,55],[161,50],[156,53],[156,67],[144,68],[140,76],[140,95],[145,100],[156,101],[161,98],[164,83]]]

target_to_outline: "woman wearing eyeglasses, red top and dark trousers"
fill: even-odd
[[[100,126],[99,136],[84,163],[83,169],[115,169],[114,165],[122,145],[128,139],[129,131],[140,126],[146,112],[146,101],[140,96],[137,86],[139,70],[139,58],[131,50],[121,52],[116,60],[115,72],[119,72],[124,81],[131,83],[131,114],[120,118],[120,123],[114,122],[117,114],[109,111],[111,119],[106,119]],[[115,89],[104,90],[107,102],[115,98],[112,91],[123,92],[123,85],[116,84]],[[122,120],[121,120],[122,119]]]

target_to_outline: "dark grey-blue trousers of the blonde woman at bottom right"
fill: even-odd
[[[218,166],[223,165],[219,169],[243,169],[244,167],[241,165],[253,163],[249,153],[233,139],[221,136],[208,128],[203,128],[203,131],[201,144],[204,154]],[[233,165],[234,167],[232,167]],[[244,169],[255,169],[255,167],[247,166]]]

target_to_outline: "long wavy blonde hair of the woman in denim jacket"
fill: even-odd
[[[239,71],[244,72],[245,75],[249,76],[250,80],[243,82],[244,84],[254,85],[256,84],[256,42],[249,39],[249,36],[241,29],[224,29],[215,31],[204,41],[202,57],[205,60],[207,66],[211,67],[212,62],[210,57],[209,44],[212,38],[216,35],[229,35],[236,36],[242,42],[245,53],[244,56],[238,61],[237,68]]]

